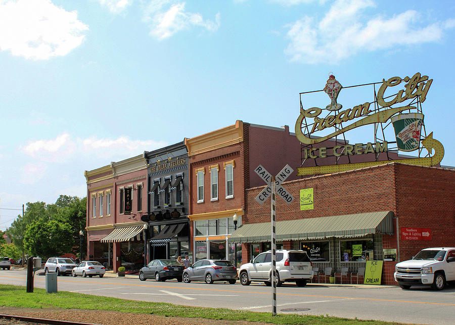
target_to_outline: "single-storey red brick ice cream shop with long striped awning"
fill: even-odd
[[[453,169],[390,162],[283,185],[296,200],[288,205],[277,198],[277,247],[306,250],[319,272],[348,267],[356,273],[366,259],[383,260],[382,284],[396,284],[398,261],[422,248],[455,246]],[[307,189],[313,207],[302,210]],[[270,206],[254,200],[261,190],[246,190],[243,225],[230,238],[243,243],[244,261],[270,248]],[[416,228],[425,228],[426,237],[402,235]]]

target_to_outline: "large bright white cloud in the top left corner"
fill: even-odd
[[[1,0],[0,30],[0,50],[46,60],[77,48],[88,26],[50,0]]]

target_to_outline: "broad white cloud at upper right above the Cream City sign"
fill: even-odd
[[[338,0],[320,21],[304,16],[287,25],[290,43],[285,53],[292,61],[337,63],[360,52],[438,41],[445,29],[455,26],[452,19],[422,26],[414,10],[362,19],[371,7],[371,0]]]

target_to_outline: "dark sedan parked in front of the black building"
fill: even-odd
[[[166,281],[169,278],[176,278],[181,282],[184,269],[185,267],[176,260],[157,259],[141,268],[139,280],[154,278],[156,281]]]

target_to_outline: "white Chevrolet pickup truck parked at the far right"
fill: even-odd
[[[393,276],[401,289],[431,286],[442,290],[447,281],[455,281],[455,247],[423,249],[412,260],[397,263]]]

